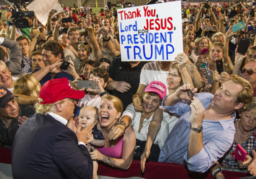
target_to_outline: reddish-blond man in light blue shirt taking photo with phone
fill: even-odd
[[[166,96],[162,105],[181,117],[161,149],[159,162],[178,163],[190,171],[205,172],[230,148],[234,140],[235,110],[253,96],[251,85],[231,75],[216,91],[196,93],[190,101],[185,84]],[[192,88],[194,93],[196,88]]]

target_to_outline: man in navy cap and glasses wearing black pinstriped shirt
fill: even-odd
[[[12,146],[14,135],[19,127],[18,117],[32,116],[32,111],[20,109],[18,98],[8,89],[0,86],[0,146]]]

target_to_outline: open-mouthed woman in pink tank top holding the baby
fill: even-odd
[[[126,128],[123,135],[110,140],[109,133],[112,127],[125,127],[119,118],[123,111],[123,105],[119,98],[109,95],[102,99],[99,108],[98,129],[102,132],[105,144],[90,152],[92,159],[100,160],[113,167],[128,169],[132,163],[136,137],[132,127]],[[117,124],[119,123],[119,124]]]

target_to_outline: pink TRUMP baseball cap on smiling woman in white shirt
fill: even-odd
[[[160,81],[152,81],[144,90],[145,92],[155,92],[163,100],[166,95],[166,86]]]

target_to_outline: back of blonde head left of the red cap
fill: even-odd
[[[32,74],[24,74],[14,82],[13,93],[26,96],[39,96],[40,83]]]

